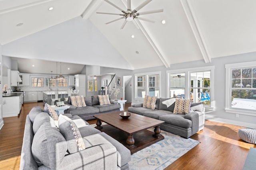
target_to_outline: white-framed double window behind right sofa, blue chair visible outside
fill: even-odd
[[[193,99],[207,109],[214,106],[214,66],[168,70],[167,92],[169,98]]]

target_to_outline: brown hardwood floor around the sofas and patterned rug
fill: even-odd
[[[18,170],[26,115],[32,107],[43,108],[42,102],[24,103],[18,117],[4,118],[0,130],[0,169]],[[130,106],[125,104],[124,110]],[[96,119],[88,121],[96,123]],[[166,170],[241,170],[250,147],[256,145],[242,141],[237,131],[242,127],[214,121],[205,121],[203,131],[191,137],[200,143],[173,162]]]

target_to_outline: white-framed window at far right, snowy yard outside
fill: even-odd
[[[226,111],[255,114],[256,62],[226,64],[226,77]]]

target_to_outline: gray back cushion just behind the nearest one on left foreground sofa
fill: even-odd
[[[50,115],[48,115],[46,112],[42,112],[42,113],[39,113],[34,120],[34,123],[33,123],[34,134],[36,134],[36,132],[38,131],[40,126],[44,124],[44,122],[49,122],[52,127],[55,127],[55,123],[52,117],[50,117]]]

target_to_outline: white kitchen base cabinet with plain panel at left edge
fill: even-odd
[[[20,109],[20,96],[3,97],[3,117],[18,116]]]

